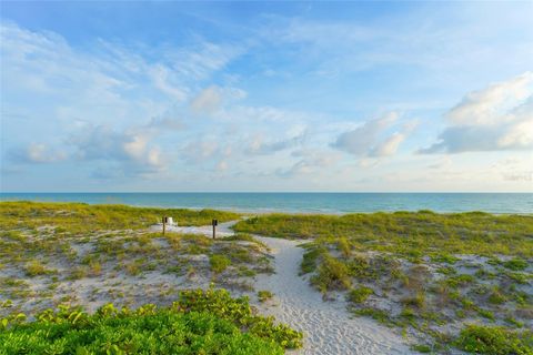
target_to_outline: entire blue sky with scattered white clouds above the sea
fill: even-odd
[[[2,192],[533,192],[533,2],[0,2]]]

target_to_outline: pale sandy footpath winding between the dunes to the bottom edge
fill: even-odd
[[[391,329],[366,318],[349,317],[345,303],[324,302],[298,275],[303,250],[299,242],[255,236],[272,250],[275,274],[260,275],[255,290],[274,293],[274,304],[260,311],[304,333],[304,348],[294,354],[413,354]]]

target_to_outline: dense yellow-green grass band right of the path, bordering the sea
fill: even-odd
[[[342,237],[352,250],[404,256],[432,253],[533,256],[532,215],[422,211],[342,216],[270,214],[241,221],[234,230],[286,239],[334,239],[335,243]],[[344,245],[341,242],[341,250]]]

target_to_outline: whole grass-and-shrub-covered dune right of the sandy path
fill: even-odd
[[[418,351],[533,354],[532,215],[272,214],[234,230],[308,241],[301,274]]]

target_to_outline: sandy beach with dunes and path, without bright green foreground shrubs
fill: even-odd
[[[215,287],[301,332],[301,346],[280,343],[288,354],[461,354],[470,324],[519,345],[533,326],[527,215],[0,206],[7,320],[64,305],[165,307],[183,290]],[[164,234],[158,215],[174,220]]]

